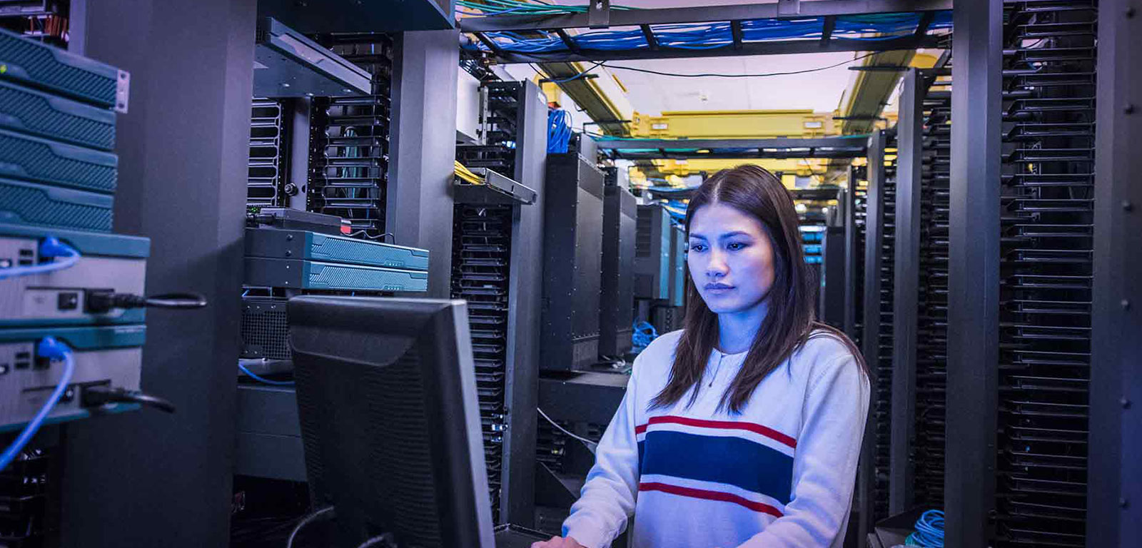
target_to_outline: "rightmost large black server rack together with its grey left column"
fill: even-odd
[[[1108,106],[1096,98],[1118,97],[1124,82],[1096,72],[1096,61],[1109,65],[1095,39],[1103,23],[1133,17],[1120,2],[1097,3],[957,7],[957,27],[982,30],[973,41],[987,46],[960,48],[957,40],[952,68],[954,126],[963,131],[952,138],[950,216],[952,545],[1134,541],[1118,537],[1121,527],[1087,526],[1088,517],[1125,519],[1129,506],[1119,498],[1118,508],[1087,511],[1088,493],[1094,500],[1097,492],[1088,478],[1103,473],[1088,462],[1119,449],[1089,444],[1089,386],[1102,369],[1091,354],[1093,287],[1121,274],[1094,265],[1094,249],[1107,243],[1095,237],[1105,217],[1094,198],[1107,179],[1095,180],[1094,122],[1096,108]],[[1129,111],[1115,102],[1115,118]]]

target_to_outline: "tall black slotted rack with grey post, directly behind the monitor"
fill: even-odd
[[[486,82],[483,136],[457,160],[525,187],[507,195],[481,185],[457,193],[453,298],[468,300],[484,458],[496,523],[534,521],[534,459],[544,248],[547,107],[532,82]],[[597,316],[596,316],[597,317]]]

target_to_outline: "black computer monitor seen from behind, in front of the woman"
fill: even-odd
[[[493,548],[467,305],[303,296],[288,316],[321,546]]]

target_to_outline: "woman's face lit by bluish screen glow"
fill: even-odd
[[[694,211],[686,265],[710,312],[732,314],[761,304],[773,287],[774,260],[761,220],[719,202]]]

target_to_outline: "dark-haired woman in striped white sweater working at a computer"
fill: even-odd
[[[563,537],[637,548],[839,547],[869,382],[813,319],[793,200],[769,171],[707,179],[686,211],[686,329],[635,360]]]

